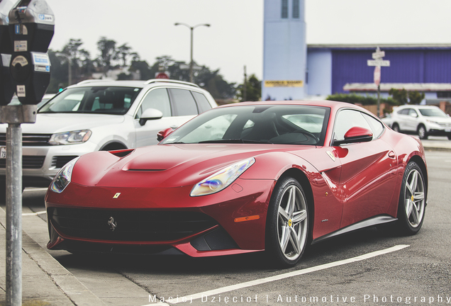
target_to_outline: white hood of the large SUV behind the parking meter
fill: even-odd
[[[101,125],[116,125],[123,121],[123,115],[38,113],[35,123],[23,124],[21,128],[24,134],[54,134],[72,130],[89,130]],[[6,131],[6,125],[0,125],[0,130]]]

